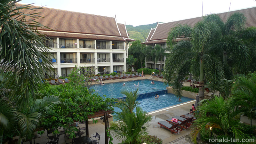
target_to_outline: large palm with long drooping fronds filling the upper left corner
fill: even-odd
[[[36,9],[40,8],[32,8],[31,4],[16,6],[17,2],[0,1],[0,67],[4,68],[2,72],[15,73],[5,76],[9,78],[2,82],[5,87],[12,89],[10,100],[21,99],[21,103],[28,103],[30,92],[36,100],[40,88],[36,83],[44,82],[45,73],[52,70],[49,64],[51,54],[44,44],[44,36],[37,31],[38,28],[45,29],[36,22],[40,17]],[[25,14],[22,12],[25,10],[35,13]]]

